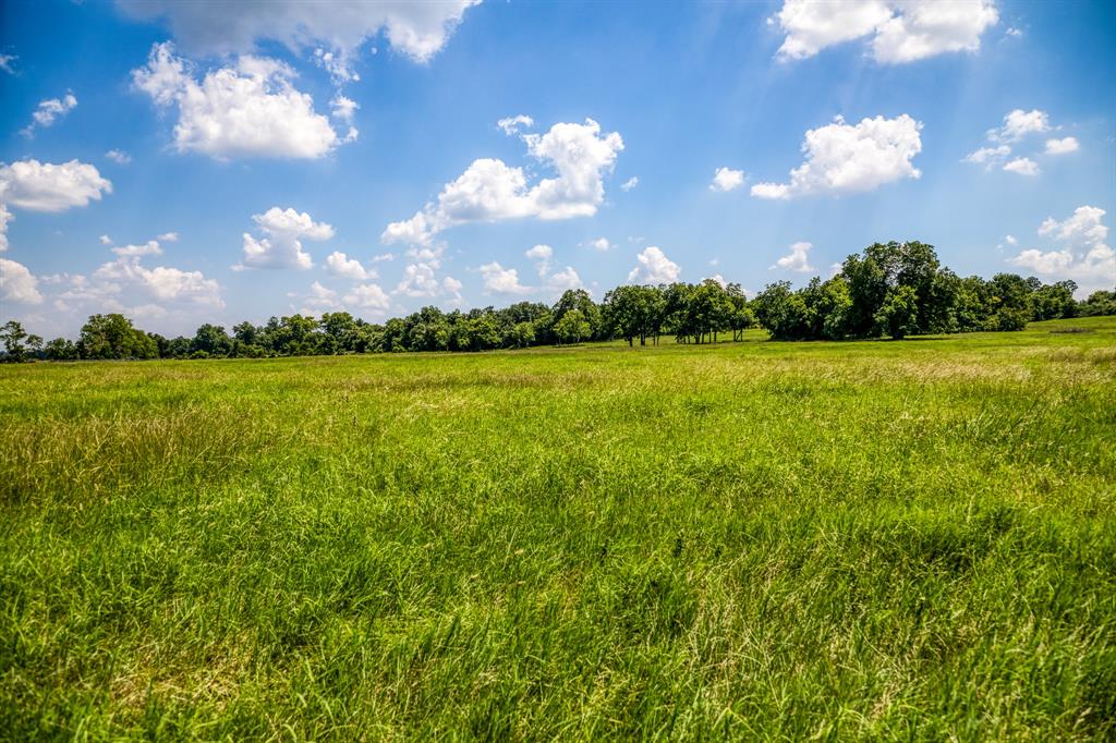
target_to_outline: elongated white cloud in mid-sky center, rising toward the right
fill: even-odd
[[[436,203],[427,203],[410,220],[392,222],[385,243],[426,244],[455,224],[535,216],[562,220],[591,216],[604,201],[604,175],[613,170],[624,142],[616,132],[602,135],[591,118],[585,124],[555,124],[546,134],[525,134],[528,154],[557,172],[528,187],[521,167],[501,160],[475,160],[448,183]]]

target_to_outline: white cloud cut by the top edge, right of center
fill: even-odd
[[[780,59],[872,37],[873,58],[894,65],[977,51],[981,35],[998,21],[992,0],[785,0],[769,22],[786,33]]]

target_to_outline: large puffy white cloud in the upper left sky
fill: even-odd
[[[214,6],[215,7],[215,6]],[[132,71],[136,88],[160,107],[176,105],[174,144],[179,152],[228,157],[321,157],[348,141],[314,99],[291,85],[295,71],[259,57],[240,57],[194,79],[190,64],[170,44],[155,45],[147,66]],[[350,131],[350,135],[355,134]]]

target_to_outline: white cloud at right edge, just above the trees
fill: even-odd
[[[1062,244],[1060,250],[1030,249],[1009,259],[1010,263],[1047,279],[1072,279],[1087,295],[1116,286],[1116,251],[1107,244],[1105,210],[1078,206],[1072,216],[1058,221],[1047,218],[1038,233]]]

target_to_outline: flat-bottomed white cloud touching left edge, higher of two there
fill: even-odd
[[[113,184],[96,167],[76,160],[57,165],[37,160],[0,164],[0,202],[19,209],[61,212],[112,192]]]

